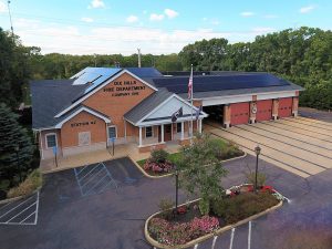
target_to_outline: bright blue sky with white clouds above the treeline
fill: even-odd
[[[10,30],[7,6],[0,27]],[[332,29],[331,0],[11,0],[10,11],[14,33],[43,54],[169,54],[203,39]]]

